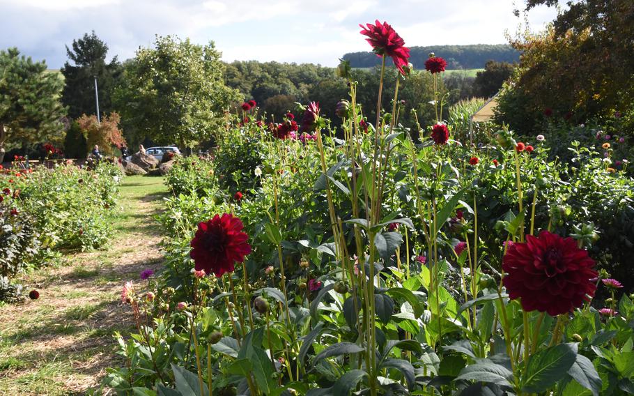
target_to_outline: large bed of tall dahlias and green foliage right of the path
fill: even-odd
[[[385,23],[362,27],[407,84],[403,40]],[[430,59],[438,78],[445,63]],[[266,125],[245,102],[250,119],[213,160],[175,165],[179,194],[160,216],[167,265],[125,285],[138,333],[120,337],[127,364],[107,385],[309,396],[634,387],[631,284],[609,275],[625,273],[614,258],[631,247],[603,238],[617,228],[634,240],[625,170],[574,143],[570,163],[549,162],[548,136],[518,142],[504,128],[472,147],[440,119],[414,141],[397,93],[372,125],[357,89],[337,105],[339,136],[316,103],[301,123]]]

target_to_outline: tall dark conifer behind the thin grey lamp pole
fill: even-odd
[[[64,63],[61,73],[65,77],[62,101],[68,106],[68,115],[73,119],[82,114],[97,114],[95,105],[95,77],[99,92],[99,111],[110,113],[111,93],[121,76],[121,63],[116,56],[106,63],[108,46],[97,37],[95,31],[72,40],[72,48],[66,46],[69,61]],[[72,63],[72,64],[71,64]]]

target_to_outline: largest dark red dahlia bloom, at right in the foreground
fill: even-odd
[[[598,273],[586,250],[573,238],[548,231],[529,235],[525,243],[513,243],[504,254],[504,287],[511,299],[520,298],[525,311],[548,312],[550,316],[581,307],[594,296]],[[588,297],[589,296],[589,297]]]

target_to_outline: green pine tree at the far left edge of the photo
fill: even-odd
[[[61,76],[48,72],[45,61],[20,56],[17,48],[0,51],[1,153],[7,143],[55,142],[63,137],[62,89]]]

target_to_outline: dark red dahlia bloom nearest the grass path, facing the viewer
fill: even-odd
[[[211,220],[199,223],[190,243],[190,257],[194,259],[196,271],[204,270],[221,277],[224,273],[233,272],[236,261],[245,261],[251,245],[247,243],[249,236],[242,227],[240,219],[229,213],[224,213],[222,217],[215,215]]]

